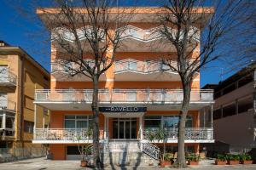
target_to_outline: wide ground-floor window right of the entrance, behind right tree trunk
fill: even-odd
[[[144,128],[177,127],[178,116],[145,116]],[[193,127],[192,116],[187,116],[186,127]]]

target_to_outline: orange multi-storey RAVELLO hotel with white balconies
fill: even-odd
[[[159,56],[170,53],[170,48],[164,45],[149,47],[151,42],[161,41],[159,35],[148,37],[157,27],[149,20],[157,10],[137,8],[136,16],[122,35],[122,47],[117,50],[113,66],[100,77],[100,139],[102,144],[108,143],[112,153],[141,152],[157,159],[163,141],[149,138],[159,127],[167,132],[166,150],[177,151],[177,123],[183,90],[177,73],[163,71],[165,65],[157,61]],[[45,11],[55,14],[55,10],[38,9],[39,17],[46,24]],[[52,60],[64,59],[58,56],[55,45],[52,41]],[[193,55],[198,51],[199,47]],[[36,90],[34,102],[51,111],[50,128],[35,127],[33,142],[49,144],[55,160],[74,159],[78,157],[78,142],[92,142],[90,138],[75,140],[90,127],[92,82],[83,76],[67,78],[65,71],[61,71],[64,68],[54,63],[51,68],[50,89]],[[214,142],[212,127],[200,127],[199,113],[212,103],[212,90],[200,89],[198,72],[192,84],[186,123],[185,144],[189,152],[199,152],[201,143]],[[117,159],[120,161],[121,157]]]

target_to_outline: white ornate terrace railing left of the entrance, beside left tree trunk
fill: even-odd
[[[86,128],[36,128],[34,140],[73,140],[80,142],[91,139]]]

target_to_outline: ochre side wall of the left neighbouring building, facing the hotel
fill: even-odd
[[[24,116],[23,116],[23,141],[25,146],[29,147],[32,144],[33,126],[27,132],[27,126],[34,123],[34,96],[35,89],[49,88],[49,75],[43,71],[39,71],[35,65],[29,60],[24,63]],[[37,105],[37,127],[44,128],[49,126],[49,111]],[[40,145],[40,144],[36,144]]]

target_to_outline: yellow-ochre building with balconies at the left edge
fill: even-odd
[[[0,41],[0,148],[41,147],[32,144],[35,89],[49,88],[49,72],[20,48]],[[49,112],[37,106],[39,127]],[[44,122],[44,124],[42,124]]]

